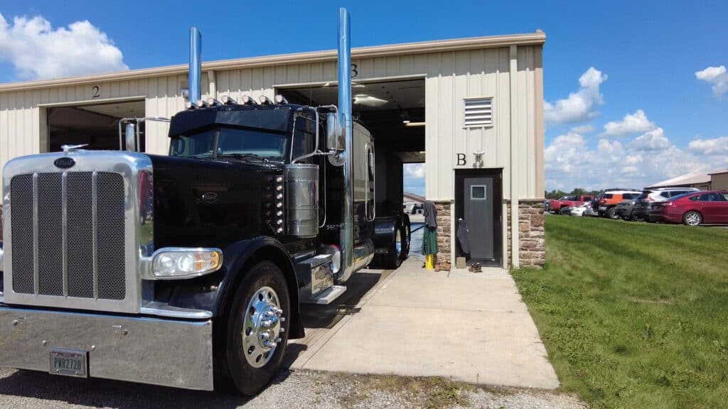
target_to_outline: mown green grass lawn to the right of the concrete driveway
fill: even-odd
[[[593,408],[728,408],[728,229],[547,216],[513,272],[563,389]]]

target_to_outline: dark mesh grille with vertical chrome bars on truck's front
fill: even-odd
[[[126,297],[122,175],[16,175],[10,194],[16,293]]]

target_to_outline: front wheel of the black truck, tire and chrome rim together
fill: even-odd
[[[237,287],[226,333],[226,360],[234,386],[260,392],[280,370],[288,342],[288,286],[270,261],[253,266]]]

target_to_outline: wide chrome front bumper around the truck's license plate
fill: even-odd
[[[88,352],[91,378],[213,390],[213,322],[0,307],[0,365],[49,368],[50,349]]]

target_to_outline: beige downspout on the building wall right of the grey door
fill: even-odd
[[[515,95],[516,76],[518,75],[518,48],[510,46],[510,263],[518,269],[521,260],[518,254],[519,244],[518,231],[518,106]]]

